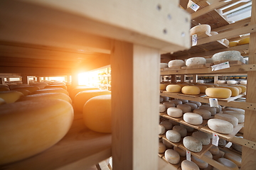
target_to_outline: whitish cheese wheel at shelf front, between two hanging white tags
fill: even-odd
[[[208,120],[208,128],[215,132],[223,133],[223,134],[230,134],[233,132],[233,125],[226,120],[221,119],[210,119]]]

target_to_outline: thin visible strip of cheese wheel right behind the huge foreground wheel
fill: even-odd
[[[68,101],[68,103],[72,103],[70,97],[63,93],[31,94],[18,99],[18,101],[33,101],[38,99],[49,99],[49,98],[61,99],[63,101]]]

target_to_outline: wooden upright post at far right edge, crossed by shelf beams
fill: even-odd
[[[250,24],[256,23],[256,0],[252,0],[252,16]],[[256,64],[256,33],[250,33],[249,44],[249,64]],[[247,73],[247,97],[246,102],[256,103],[255,90],[256,72]],[[245,111],[245,127],[243,137],[246,140],[256,142],[256,111]],[[249,147],[242,147],[242,170],[255,169],[256,167],[256,150]]]

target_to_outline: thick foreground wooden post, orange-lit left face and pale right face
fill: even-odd
[[[113,169],[158,169],[159,62],[159,50],[113,42]]]

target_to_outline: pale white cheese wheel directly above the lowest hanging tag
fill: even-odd
[[[186,147],[186,149],[192,152],[201,152],[203,149],[202,142],[191,136],[186,136],[183,138],[183,145]]]

